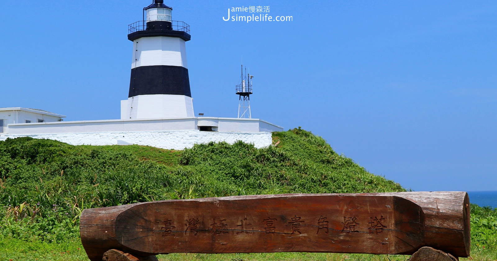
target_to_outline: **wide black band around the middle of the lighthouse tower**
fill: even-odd
[[[131,69],[128,97],[147,94],[174,94],[191,97],[188,69],[154,65]]]

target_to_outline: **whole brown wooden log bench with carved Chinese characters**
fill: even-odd
[[[231,196],[85,209],[80,231],[91,261],[272,252],[452,261],[470,255],[469,211],[466,192]]]

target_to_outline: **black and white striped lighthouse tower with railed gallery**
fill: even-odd
[[[193,117],[185,47],[189,26],[171,20],[172,8],[164,0],[143,10],[143,21],[129,25],[133,60],[121,119]]]

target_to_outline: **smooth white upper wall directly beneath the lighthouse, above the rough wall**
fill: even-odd
[[[273,132],[283,128],[259,119],[216,118],[216,117],[184,117],[131,120],[95,120],[95,121],[62,121],[28,124],[10,124],[9,134],[38,133],[82,133],[82,132],[115,132],[115,131],[164,131],[164,130],[197,130],[198,121],[218,123],[218,131],[236,132]],[[202,126],[202,125],[200,125]],[[205,126],[205,125],[204,125]]]

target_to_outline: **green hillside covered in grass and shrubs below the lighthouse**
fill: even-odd
[[[61,246],[79,253],[71,260],[85,260],[78,245],[79,216],[85,208],[230,195],[405,191],[300,128],[274,133],[273,146],[262,149],[243,142],[173,151],[7,139],[0,142],[0,180],[0,249],[11,249],[7,254],[0,251],[0,261],[22,259],[29,248],[57,253]],[[488,224],[475,230],[481,240],[474,242],[481,248],[495,246],[497,212],[472,207],[480,213],[475,222]],[[52,255],[39,258],[47,257]]]

